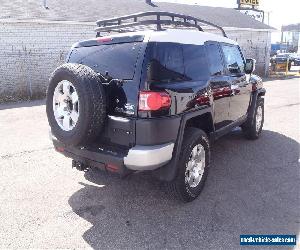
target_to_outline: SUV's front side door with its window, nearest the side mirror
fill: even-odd
[[[240,48],[232,44],[222,44],[221,47],[231,88],[229,119],[233,122],[247,114],[251,85]]]

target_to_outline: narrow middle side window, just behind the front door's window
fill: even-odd
[[[210,64],[210,73],[212,76],[222,75],[224,66],[222,56],[217,44],[206,45],[208,60]]]

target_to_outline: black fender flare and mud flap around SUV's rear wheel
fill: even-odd
[[[161,181],[172,181],[177,174],[177,169],[178,169],[178,161],[179,161],[179,156],[181,152],[181,146],[184,138],[184,131],[185,131],[185,126],[186,123],[189,119],[196,117],[196,116],[201,116],[204,114],[211,114],[212,120],[213,120],[213,109],[212,107],[205,107],[203,109],[200,109],[198,111],[193,111],[186,113],[182,116],[181,121],[180,121],[180,126],[178,130],[178,136],[177,140],[174,146],[174,151],[173,151],[173,157],[169,163],[167,163],[165,166],[158,168],[153,171],[153,175],[161,180]]]

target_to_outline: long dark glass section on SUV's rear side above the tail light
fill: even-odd
[[[150,82],[201,80],[208,75],[204,46],[154,42],[148,44],[147,54]]]

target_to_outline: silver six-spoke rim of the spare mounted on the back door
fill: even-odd
[[[53,112],[57,124],[64,131],[72,130],[79,118],[79,100],[74,85],[63,80],[53,94]]]

